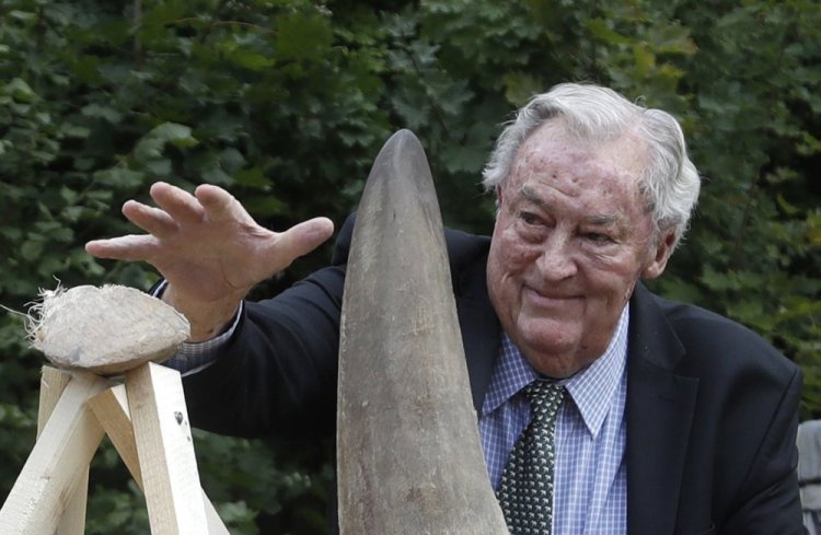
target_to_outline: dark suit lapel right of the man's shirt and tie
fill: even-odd
[[[631,302],[627,358],[627,532],[672,535],[698,380],[673,373],[684,348],[652,295]]]

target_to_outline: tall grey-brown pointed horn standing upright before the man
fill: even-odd
[[[373,163],[345,281],[342,535],[507,534],[471,400],[439,203],[421,144]]]

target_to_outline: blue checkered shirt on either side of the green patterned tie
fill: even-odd
[[[602,357],[562,381],[569,399],[556,421],[554,535],[627,533],[627,428],[625,307]],[[502,335],[501,350],[479,418],[487,473],[498,488],[508,455],[530,422],[530,404],[520,391],[537,377],[519,349]]]

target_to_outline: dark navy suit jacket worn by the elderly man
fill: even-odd
[[[247,303],[224,354],[185,380],[195,426],[246,437],[333,437],[350,226],[331,267],[274,300]],[[489,239],[446,235],[478,410],[500,344],[485,282]],[[641,284],[629,306],[628,533],[803,533],[798,368],[738,324]]]

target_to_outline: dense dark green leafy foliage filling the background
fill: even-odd
[[[724,313],[805,371],[821,415],[821,10],[814,0],[3,0],[0,304],[39,288],[146,288],[82,248],[163,179],[227,186],[266,225],[356,207],[390,133],[430,159],[446,222],[489,232],[478,185],[499,124],[562,81],[677,115],[705,176],[686,243],[654,288]],[[323,264],[327,248],[261,287]],[[0,316],[0,497],[34,440],[42,358]],[[232,533],[324,532],[327,447],[196,434]],[[296,451],[294,451],[296,450]],[[146,533],[109,445],[89,533]]]

